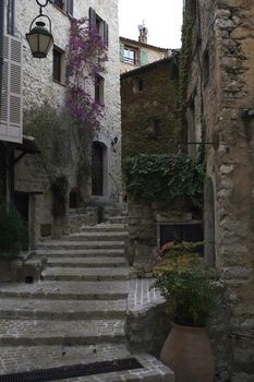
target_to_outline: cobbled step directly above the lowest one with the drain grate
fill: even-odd
[[[2,319],[0,346],[92,345],[121,343],[124,320],[10,320]]]

